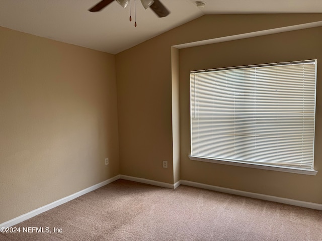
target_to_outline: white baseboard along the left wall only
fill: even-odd
[[[103,182],[100,182],[98,184],[95,184],[95,185],[93,185],[91,187],[85,188],[84,190],[79,191],[79,192],[76,192],[74,194],[71,194],[71,195],[69,195],[67,197],[63,197],[63,198],[61,198],[61,199],[59,199],[57,201],[54,201],[54,202],[49,203],[49,204],[47,204],[45,206],[39,207],[39,208],[37,208],[35,210],[32,210],[32,211],[30,211],[28,213],[25,213],[23,215],[20,215],[19,217],[15,217],[15,218],[7,221],[7,222],[0,223],[0,228],[2,228],[2,227],[11,227],[13,225],[16,225],[16,224],[18,224],[18,223],[20,223],[22,221],[25,221],[25,220],[27,220],[29,218],[32,218],[32,217],[34,217],[34,216],[36,216],[36,215],[38,215],[40,213],[43,213],[45,211],[48,211],[49,209],[52,209],[54,207],[57,207],[57,206],[59,206],[61,204],[64,204],[66,202],[69,202],[72,199],[75,199],[75,198],[77,198],[79,196],[82,196],[82,195],[84,195],[86,193],[89,193],[91,191],[94,191],[94,190],[96,190],[96,189],[98,189],[100,187],[103,187],[103,186],[105,186],[105,185],[107,185],[107,184],[109,184],[111,182],[114,182],[114,181],[116,181],[118,179],[120,179],[120,175],[117,175],[117,176],[112,177],[112,178],[110,178],[108,180],[105,180]]]

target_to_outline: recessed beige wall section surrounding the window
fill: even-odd
[[[220,187],[322,203],[322,27],[180,50],[181,178]],[[190,71],[317,59],[316,176],[189,160]]]

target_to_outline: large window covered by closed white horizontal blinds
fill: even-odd
[[[190,86],[190,159],[316,174],[316,60],[194,71]]]

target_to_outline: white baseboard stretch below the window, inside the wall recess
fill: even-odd
[[[186,185],[186,186],[191,186],[191,187],[208,189],[208,190],[217,191],[217,192],[234,194],[234,195],[238,195],[238,196],[251,197],[251,198],[257,198],[257,199],[266,200],[266,201],[289,204],[289,205],[293,205],[293,206],[322,210],[322,204],[313,203],[313,202],[304,202],[304,201],[298,201],[298,200],[288,199],[288,198],[283,198],[283,197],[270,196],[270,195],[265,195],[265,194],[260,194],[260,193],[239,191],[236,189],[217,187],[217,186],[207,185],[207,184],[198,183],[198,182],[185,181],[185,180],[181,180],[181,184]]]

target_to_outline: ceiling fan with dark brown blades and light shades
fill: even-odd
[[[99,12],[112,3],[114,0],[102,0],[97,5],[89,9],[90,12]],[[123,8],[130,3],[131,0],[115,0]],[[169,10],[159,0],[141,0],[144,9],[150,8],[159,18],[166,17],[170,14]]]

